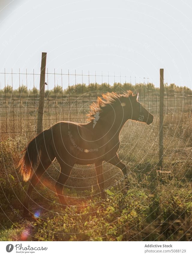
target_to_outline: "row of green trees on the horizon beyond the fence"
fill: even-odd
[[[81,96],[82,94],[85,94],[86,96],[100,96],[102,93],[106,92],[116,92],[116,93],[124,93],[126,90],[131,90],[134,93],[138,91],[141,96],[152,96],[157,95],[159,96],[159,88],[155,87],[154,84],[130,84],[130,83],[115,83],[113,85],[103,83],[103,84],[97,84],[97,83],[91,83],[89,85],[87,84],[76,84],[71,85],[67,87],[66,89],[62,90],[62,87],[60,85],[55,86],[51,90],[45,91],[45,96]],[[17,88],[12,91],[12,87],[10,85],[7,85],[5,88],[0,90],[1,95],[6,96],[37,96],[39,94],[39,90],[35,87],[33,89],[27,89],[25,85],[21,85],[20,88]],[[165,84],[165,95],[167,96],[174,96],[174,95],[191,95],[192,90],[190,88],[187,88],[186,86],[180,87],[175,84],[167,85]]]

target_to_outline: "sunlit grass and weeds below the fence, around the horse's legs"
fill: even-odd
[[[35,187],[33,219],[22,216],[28,183],[17,163],[29,134],[1,134],[1,241],[189,241],[192,237],[192,122],[164,128],[164,173],[158,170],[158,127],[129,125],[120,134],[119,157],[128,169],[123,195],[121,171],[104,163],[107,199],[101,201],[94,166],[76,165],[62,210],[55,195],[55,161]]]

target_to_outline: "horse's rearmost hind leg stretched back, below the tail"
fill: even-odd
[[[48,169],[48,167],[51,165],[51,163],[54,159],[55,159],[55,157],[51,153],[49,155],[47,153],[45,153],[40,156],[38,168],[36,169],[35,173],[32,176],[32,179],[29,183],[27,195],[26,195],[26,198],[23,203],[23,212],[25,215],[30,215],[29,210],[28,210],[28,204],[29,204],[29,198],[31,196],[33,188],[35,187],[35,185],[37,185],[39,179],[44,174],[46,169]]]

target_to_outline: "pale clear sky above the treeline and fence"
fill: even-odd
[[[20,68],[22,83],[39,87],[39,75],[33,80],[25,73],[39,74],[41,52],[47,52],[48,73],[59,74],[48,76],[49,88],[61,84],[61,69],[103,74],[104,82],[109,72],[110,83],[115,73],[117,82],[121,75],[121,82],[126,76],[132,83],[159,86],[160,68],[164,82],[192,88],[191,13],[188,0],[0,0],[0,72],[19,73]],[[17,88],[19,77],[12,78],[0,74],[0,87],[13,81]],[[74,82],[73,75],[62,79],[63,87]]]

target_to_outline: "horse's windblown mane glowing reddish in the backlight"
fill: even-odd
[[[95,115],[104,116],[108,113],[109,110],[111,110],[111,106],[115,108],[116,106],[119,106],[121,104],[122,98],[128,98],[132,96],[133,92],[128,90],[124,94],[117,94],[117,93],[106,93],[102,94],[103,99],[101,97],[97,98],[96,102],[93,102],[90,106],[90,111],[87,114],[88,121],[91,121],[95,119]]]

